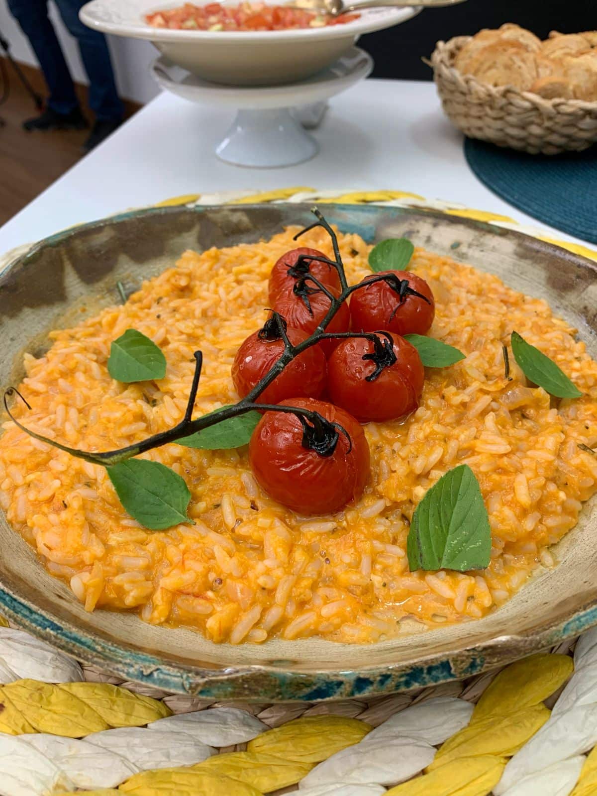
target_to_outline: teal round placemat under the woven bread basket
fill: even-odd
[[[597,243],[597,146],[548,157],[466,139],[464,154],[482,183],[510,205]]]

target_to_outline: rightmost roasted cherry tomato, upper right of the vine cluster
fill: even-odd
[[[388,281],[372,282],[386,276]],[[410,271],[379,271],[366,276],[350,298],[350,324],[355,332],[387,329],[396,334],[426,334],[435,316],[431,288]]]

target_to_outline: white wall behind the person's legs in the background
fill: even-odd
[[[52,18],[56,27],[72,76],[79,83],[87,83],[76,41],[64,28],[60,14],[58,14],[53,3],[49,5],[50,18]],[[25,64],[37,65],[37,61],[29,47],[29,41],[21,33],[18,24],[10,15],[4,0],[0,0],[0,31],[10,42],[10,52],[15,60],[22,61]],[[120,95],[128,100],[136,100],[139,103],[146,103],[152,100],[159,93],[159,88],[150,77],[148,70],[158,51],[154,49],[154,46],[149,41],[125,39],[117,36],[111,36],[108,39]]]

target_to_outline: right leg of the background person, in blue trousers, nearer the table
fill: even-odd
[[[96,119],[119,123],[123,118],[124,109],[116,91],[106,37],[80,21],[79,10],[85,0],[55,0],[55,2],[64,25],[79,43],[81,58],[89,78],[89,105],[96,114]]]

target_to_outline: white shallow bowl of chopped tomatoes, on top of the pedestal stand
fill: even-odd
[[[264,86],[304,80],[343,56],[363,33],[398,25],[419,10],[365,9],[344,25],[255,32],[154,28],[146,14],[184,0],[92,0],[80,10],[90,28],[152,41],[174,64],[214,83]],[[194,0],[205,5],[204,0]],[[275,2],[275,0],[272,0]],[[279,5],[280,3],[278,3]]]

